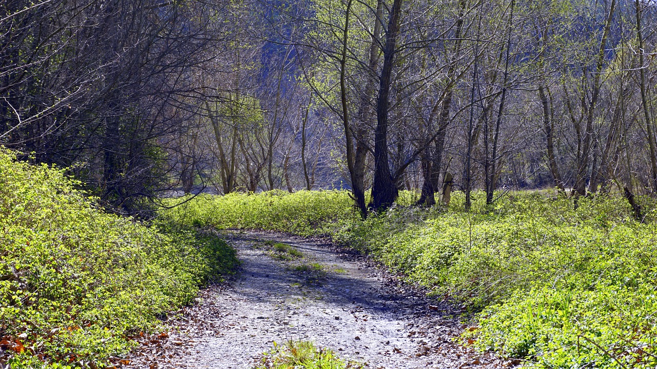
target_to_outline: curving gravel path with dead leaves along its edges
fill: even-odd
[[[250,369],[274,342],[287,340],[313,341],[365,368],[512,366],[460,344],[457,337],[471,327],[459,309],[428,299],[362,255],[272,232],[227,236],[242,261],[238,274],[176,312],[168,334],[143,337],[129,367]],[[281,260],[265,240],[303,257]]]

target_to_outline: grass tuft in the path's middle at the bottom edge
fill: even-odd
[[[274,342],[274,348],[265,353],[254,369],[356,369],[362,364],[338,358],[330,349],[317,348],[309,341]]]

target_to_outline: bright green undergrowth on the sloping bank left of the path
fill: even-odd
[[[122,364],[131,337],[237,263],[212,233],[110,215],[78,186],[0,150],[0,366]]]

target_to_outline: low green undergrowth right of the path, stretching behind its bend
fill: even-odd
[[[166,213],[219,228],[328,234],[476,312],[481,350],[547,368],[657,364],[657,227],[623,198],[521,192],[493,206],[398,207],[361,221],[346,192],[204,196]]]

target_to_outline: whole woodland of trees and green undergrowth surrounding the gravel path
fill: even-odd
[[[648,0],[0,0],[0,366],[127,364],[237,272],[219,230],[260,229],[371,255],[480,352],[654,367],[656,25]]]

